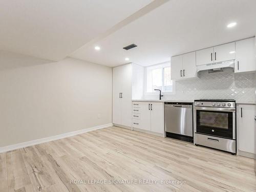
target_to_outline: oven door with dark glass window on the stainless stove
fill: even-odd
[[[195,107],[196,132],[236,139],[236,108]]]

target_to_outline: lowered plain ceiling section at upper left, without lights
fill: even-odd
[[[3,0],[0,50],[60,60],[151,2]]]

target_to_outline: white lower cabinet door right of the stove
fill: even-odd
[[[254,105],[237,105],[237,133],[240,151],[254,153]]]

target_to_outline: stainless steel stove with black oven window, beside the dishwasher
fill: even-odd
[[[236,154],[236,101],[200,99],[194,102],[195,144]]]

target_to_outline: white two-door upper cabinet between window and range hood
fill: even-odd
[[[196,52],[172,57],[171,78],[175,80],[197,77]]]

